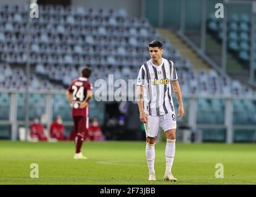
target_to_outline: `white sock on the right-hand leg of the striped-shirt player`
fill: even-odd
[[[175,156],[175,142],[176,139],[171,140],[167,139],[165,147],[165,159],[166,159],[166,168],[165,173],[171,173],[171,167],[173,166],[173,159]]]

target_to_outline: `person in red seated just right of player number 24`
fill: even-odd
[[[99,120],[97,118],[93,118],[88,129],[88,138],[86,140],[105,141],[105,137],[102,134],[101,127],[99,127]]]

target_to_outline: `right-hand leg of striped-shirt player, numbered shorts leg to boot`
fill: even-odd
[[[167,114],[160,118],[160,127],[165,131],[167,139],[165,146],[165,175],[164,180],[176,181],[177,179],[171,174],[171,167],[175,158],[175,142],[176,142],[176,118],[175,114]]]

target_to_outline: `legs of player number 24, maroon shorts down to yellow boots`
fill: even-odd
[[[77,118],[77,133],[76,133],[76,152],[75,152],[75,159],[87,159],[86,156],[84,156],[81,153],[81,147],[83,145],[83,140],[85,137],[85,131],[86,131],[86,118],[84,116],[79,116]]]

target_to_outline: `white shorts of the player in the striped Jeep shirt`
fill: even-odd
[[[147,115],[147,123],[144,123],[145,132],[147,137],[155,137],[159,132],[159,127],[167,132],[170,129],[176,129],[176,116],[175,112],[167,113],[162,116],[149,116]]]

